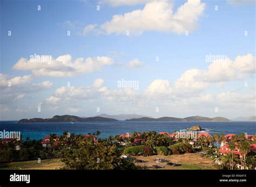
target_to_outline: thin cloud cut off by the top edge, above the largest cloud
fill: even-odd
[[[150,2],[152,0],[100,0],[99,4],[109,4],[111,6],[122,6],[122,5],[137,5]]]

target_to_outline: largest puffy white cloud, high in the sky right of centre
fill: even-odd
[[[176,13],[173,13],[173,4],[167,0],[150,1],[142,10],[114,15],[112,20],[98,26],[97,31],[106,34],[126,34],[126,31],[129,31],[131,35],[142,34],[144,31],[185,34],[186,31],[191,32],[197,27],[197,21],[204,10],[205,3],[200,0],[188,0]],[[89,28],[90,31],[96,30],[95,25]]]

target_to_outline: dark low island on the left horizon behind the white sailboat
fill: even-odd
[[[52,118],[32,118],[32,119],[21,119],[18,123],[50,123],[50,122],[111,122],[118,121],[112,118],[104,118],[104,117],[89,117],[89,118],[80,118],[77,116],[54,116]]]

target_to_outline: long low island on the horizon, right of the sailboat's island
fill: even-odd
[[[173,117],[161,117],[161,118],[133,118],[126,121],[231,121],[223,117],[207,118],[203,116],[191,116],[187,118],[173,118]]]

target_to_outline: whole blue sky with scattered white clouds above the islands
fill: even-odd
[[[255,116],[255,1],[1,1],[0,120]]]

